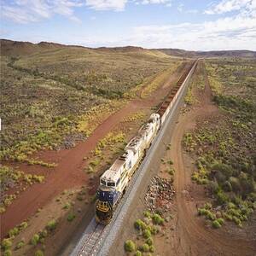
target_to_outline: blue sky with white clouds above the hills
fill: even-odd
[[[1,0],[0,37],[88,47],[256,50],[256,0]]]

